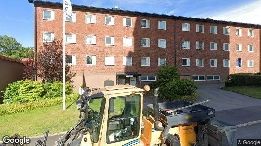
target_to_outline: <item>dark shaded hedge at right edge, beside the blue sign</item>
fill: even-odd
[[[261,86],[261,75],[230,74],[225,86]]]

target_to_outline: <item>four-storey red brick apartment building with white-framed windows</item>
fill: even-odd
[[[28,0],[35,8],[35,48],[63,37],[62,3]],[[142,87],[166,62],[182,78],[224,82],[230,73],[261,71],[261,25],[72,5],[65,22],[66,63],[91,88]],[[110,84],[111,82],[109,82]]]

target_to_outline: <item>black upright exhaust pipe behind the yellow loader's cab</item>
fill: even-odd
[[[156,130],[162,131],[164,130],[164,127],[162,127],[162,123],[159,122],[158,90],[159,88],[156,88],[153,94],[154,96],[153,108],[154,108],[154,118],[155,118],[154,127]]]

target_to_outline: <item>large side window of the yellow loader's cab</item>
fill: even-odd
[[[109,100],[106,142],[113,143],[139,136],[140,95],[128,95]]]

